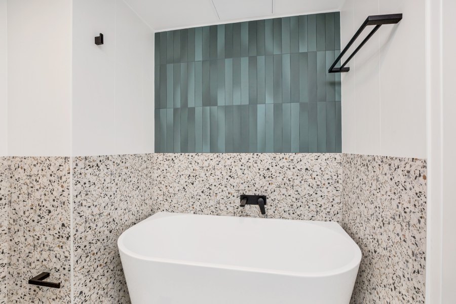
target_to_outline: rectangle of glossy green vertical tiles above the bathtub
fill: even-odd
[[[340,15],[155,34],[157,153],[340,153]]]

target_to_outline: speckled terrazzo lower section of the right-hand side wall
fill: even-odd
[[[425,303],[426,160],[343,155],[341,223],[361,248],[352,303]]]

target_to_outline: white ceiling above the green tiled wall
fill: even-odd
[[[253,20],[337,11],[345,0],[124,1],[151,29],[154,31],[163,31],[246,19]],[[272,7],[272,14],[270,7]]]

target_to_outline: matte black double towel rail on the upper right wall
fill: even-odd
[[[370,39],[370,37],[373,36],[373,34],[384,24],[396,24],[399,21],[402,20],[402,14],[392,14],[392,15],[376,15],[376,16],[369,16],[367,19],[363,22],[361,27],[358,29],[358,31],[355,33],[353,38],[350,40],[348,45],[345,47],[345,49],[340,53],[340,55],[337,57],[337,59],[334,61],[334,63],[331,65],[329,68],[328,72],[329,73],[346,73],[350,70],[350,67],[346,67],[346,65],[350,62],[350,60],[353,58],[353,56],[358,53],[358,51],[366,44],[366,42]],[[369,25],[375,25],[375,27],[371,30],[371,32],[365,37],[365,39],[361,42],[361,44],[353,51],[352,55],[349,56],[349,58],[340,65],[340,67],[335,67],[337,62],[339,62],[340,59],[342,59],[342,56],[347,53],[348,49],[355,43],[356,39],[359,37],[359,35],[362,33],[362,31],[366,28],[366,26]]]

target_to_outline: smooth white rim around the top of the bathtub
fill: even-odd
[[[221,270],[234,270],[234,271],[242,271],[242,272],[255,272],[255,273],[262,273],[262,274],[270,274],[270,275],[282,275],[282,276],[291,276],[291,277],[299,277],[299,278],[325,278],[325,277],[332,277],[341,274],[345,274],[351,272],[354,269],[358,269],[361,263],[362,253],[359,246],[356,242],[345,232],[345,230],[337,223],[333,221],[314,221],[314,220],[307,220],[307,222],[317,223],[322,225],[322,223],[333,223],[333,232],[338,232],[341,234],[340,237],[344,237],[347,239],[348,242],[351,242],[352,247],[354,248],[355,254],[350,262],[346,263],[343,267],[336,268],[334,270],[325,271],[325,272],[292,272],[292,271],[283,271],[283,270],[276,270],[276,269],[268,269],[268,268],[255,268],[255,267],[242,267],[236,265],[226,265],[226,264],[217,264],[217,263],[209,263],[209,262],[195,262],[195,261],[188,261],[188,260],[180,260],[180,259],[170,259],[170,258],[160,258],[160,257],[153,257],[153,256],[145,256],[142,254],[135,253],[128,249],[123,240],[125,238],[126,233],[137,225],[144,225],[148,221],[151,220],[163,220],[168,217],[174,216],[223,216],[223,215],[213,215],[213,214],[194,214],[194,213],[174,213],[174,212],[167,212],[167,211],[160,211],[157,212],[148,218],[140,221],[139,223],[131,226],[129,229],[124,231],[119,239],[117,240],[117,246],[120,253],[123,253],[127,256],[133,257],[135,259],[143,260],[143,261],[152,261],[152,262],[160,262],[160,263],[168,263],[174,265],[187,265],[193,267],[204,267],[204,268],[214,268],[214,269],[221,269]],[[256,217],[246,217],[249,219],[260,219],[260,220],[271,220],[271,221],[302,221],[302,220],[293,220],[293,219],[281,219],[281,218],[256,218]],[[326,227],[330,230],[329,227]],[[339,230],[339,231],[336,231]],[[344,235],[345,234],[345,235]]]

